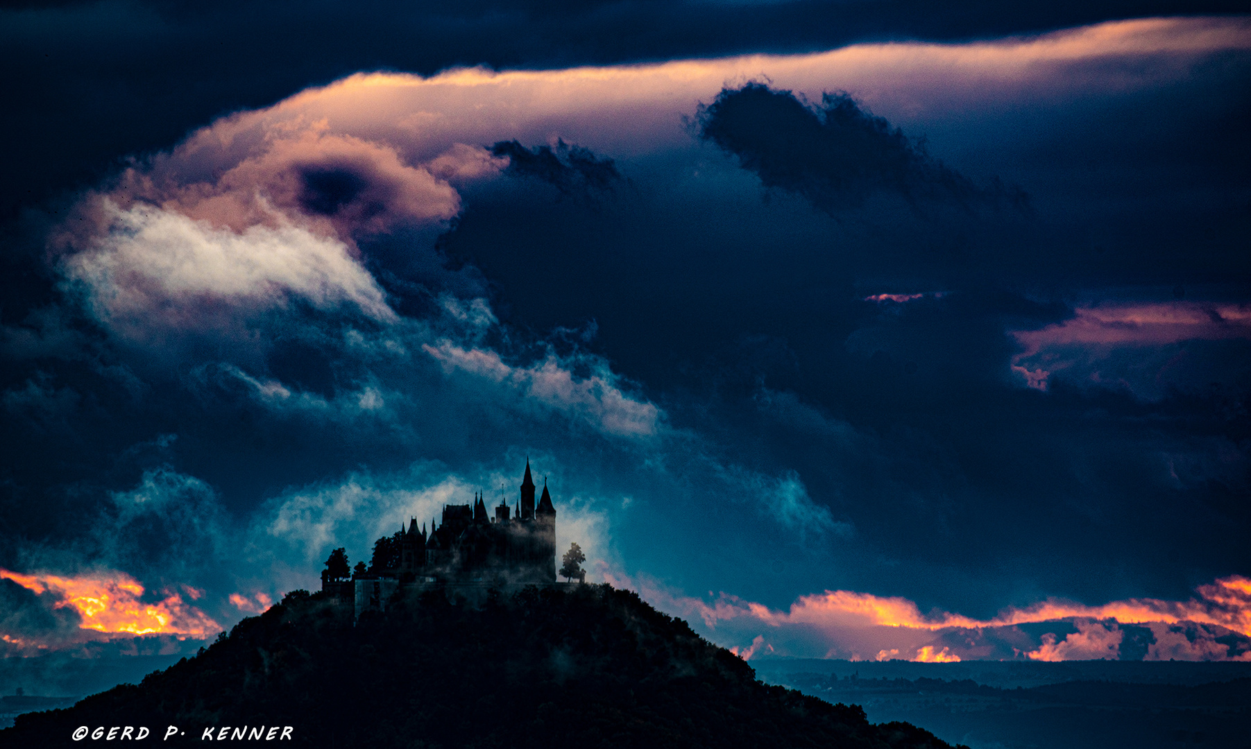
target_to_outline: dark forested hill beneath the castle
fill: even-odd
[[[289,594],[193,659],[78,705],[23,715],[5,745],[59,745],[75,728],[293,726],[308,746],[846,746],[948,744],[858,706],[768,686],[728,650],[608,585],[432,590],[355,625]],[[93,743],[93,741],[88,741]],[[288,745],[280,743],[281,745]]]

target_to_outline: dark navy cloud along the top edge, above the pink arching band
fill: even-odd
[[[0,188],[5,218],[83,188],[129,154],[357,70],[430,74],[453,65],[559,68],[831,49],[858,40],[962,40],[1145,15],[1240,13],[1245,3],[967,1],[593,4],[5,4],[0,66],[21,144]],[[55,154],[48,159],[46,154]]]

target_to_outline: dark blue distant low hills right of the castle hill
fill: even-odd
[[[809,670],[813,665],[824,673]],[[802,670],[788,670],[794,666]],[[1248,671],[1248,663],[1180,661],[772,661],[757,668],[774,684],[862,705],[871,720],[907,720],[950,740],[996,749],[1251,749],[1251,678],[1242,675]],[[932,678],[938,675],[946,678]],[[1018,685],[975,680],[987,678]],[[1038,680],[1045,683],[1020,685]]]

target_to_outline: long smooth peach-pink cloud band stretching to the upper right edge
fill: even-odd
[[[689,144],[683,115],[723,85],[762,75],[819,100],[823,90],[864,96],[891,119],[917,111],[967,118],[968,106],[1036,100],[1055,90],[1123,90],[1187,75],[1188,60],[1251,49],[1246,19],[1137,19],[971,44],[862,44],[803,55],[746,55],[652,65],[565,70],[449,70],[430,78],[358,74],[308,89],[271,108],[225,118],[194,134],[180,160],[224,171],[281,128],[324,124],[329,133],[394,146],[428,164],[454,144],[523,144],[555,138],[610,155]],[[1146,60],[1106,71],[1093,60]],[[1182,64],[1170,64],[1182,60]],[[1081,75],[1067,74],[1072,66]]]

